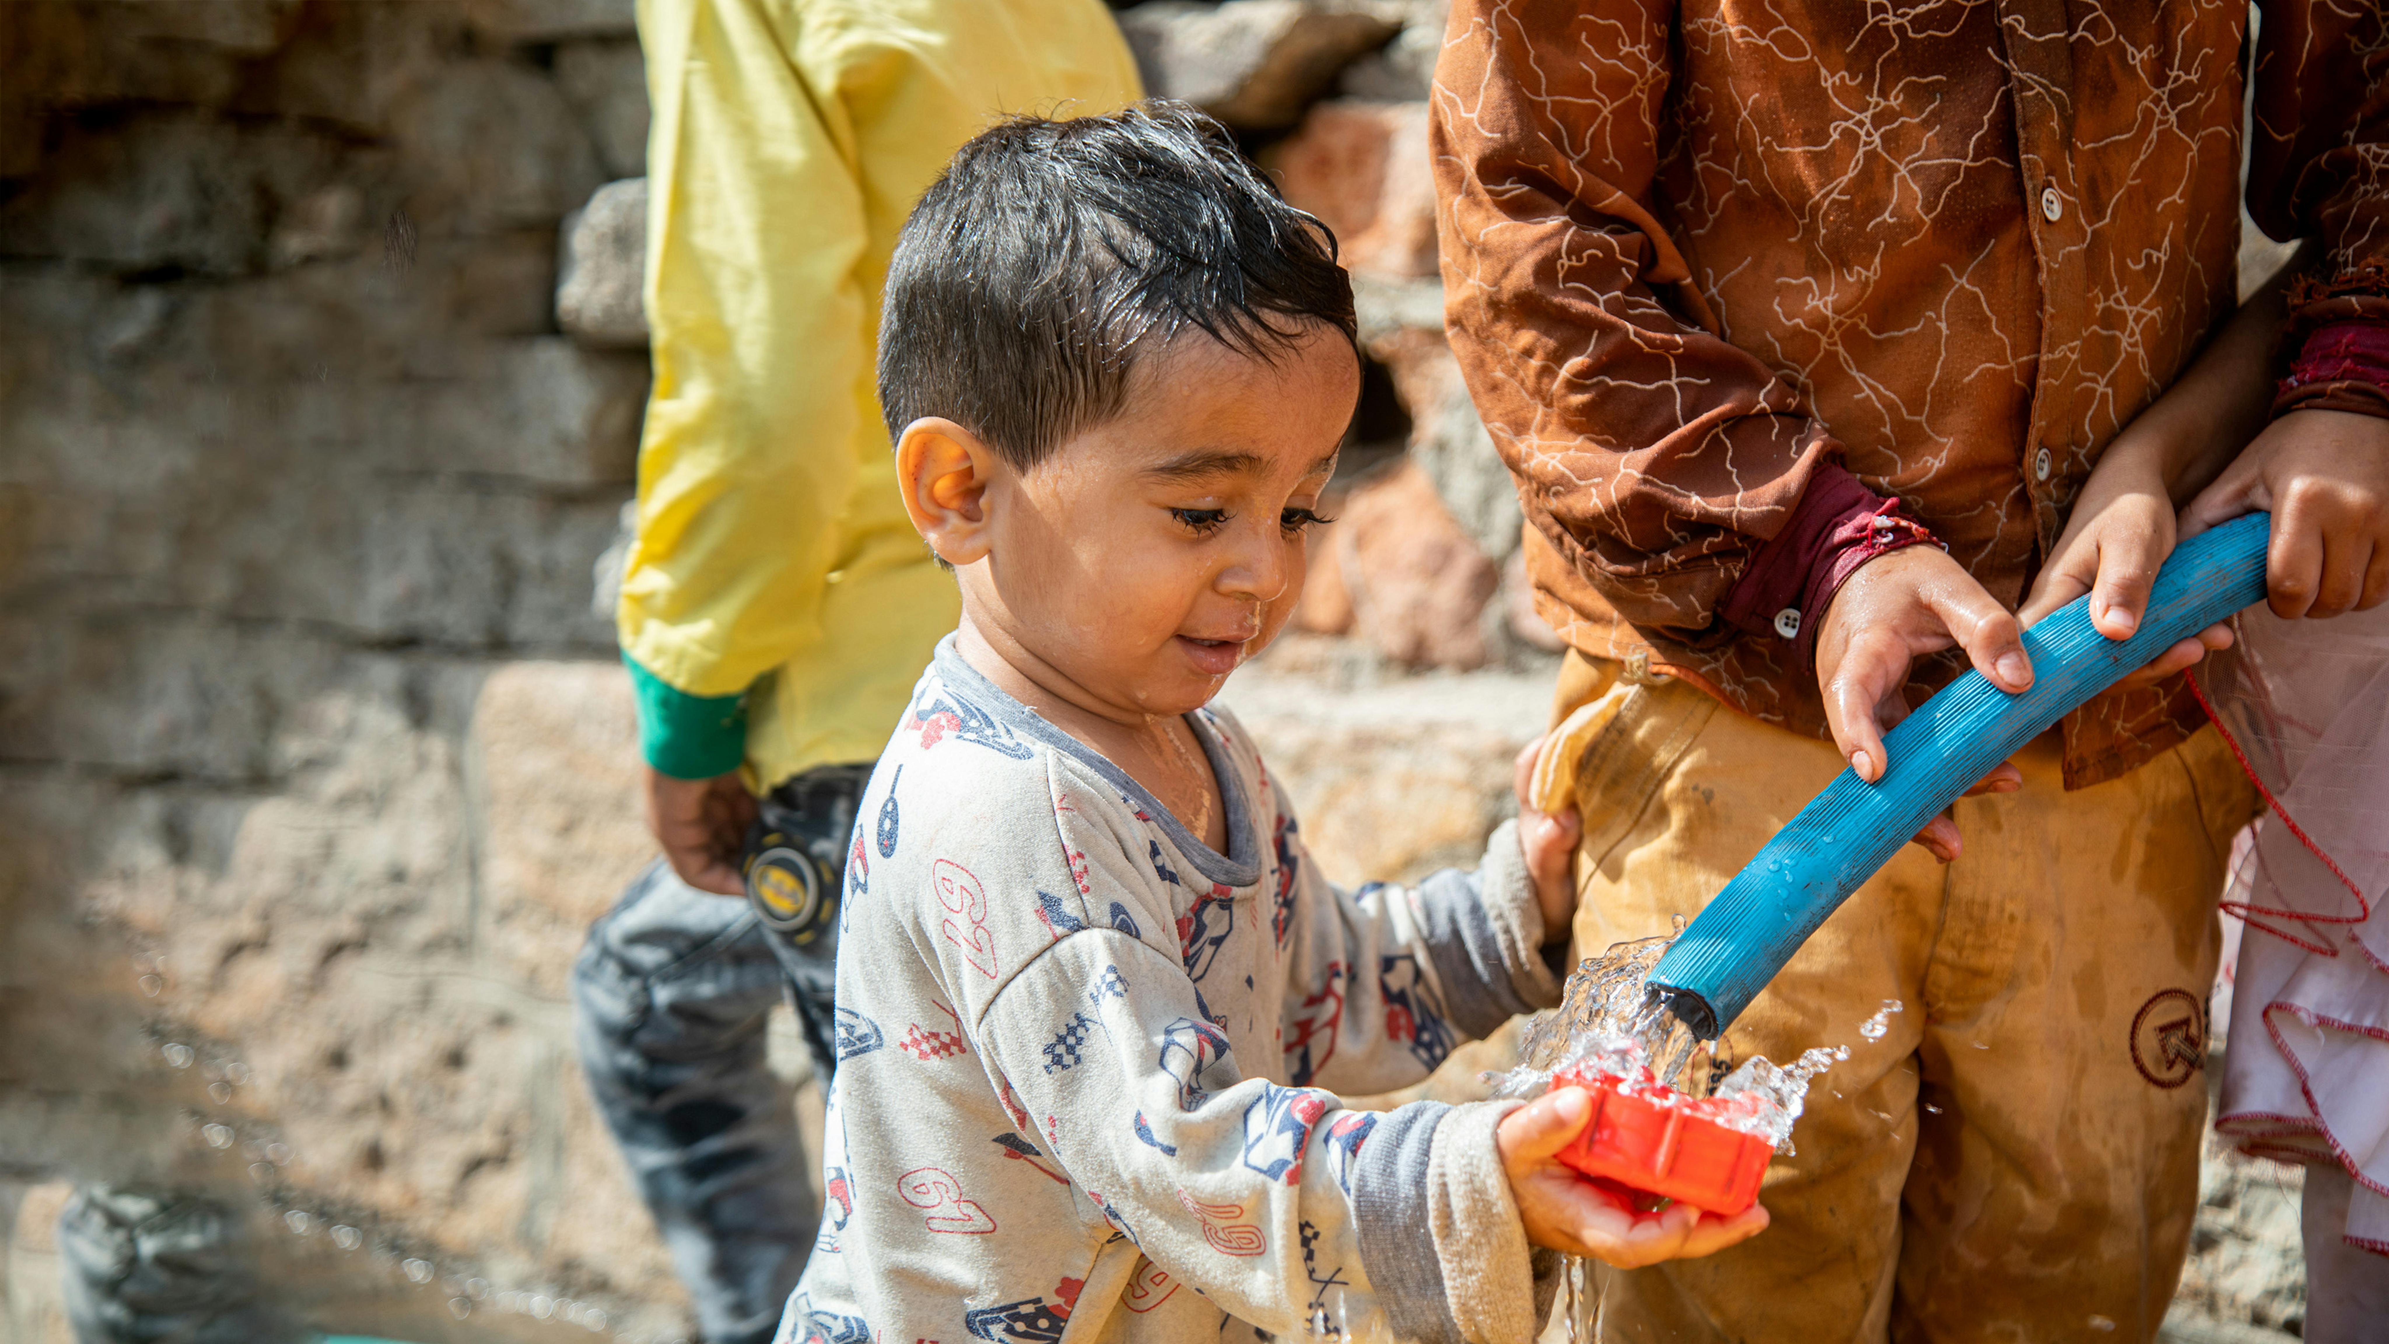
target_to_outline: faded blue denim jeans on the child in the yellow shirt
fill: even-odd
[[[834,875],[870,768],[800,775],[764,799]],[[652,863],[590,928],[573,964],[573,1038],[638,1193],[671,1251],[707,1344],[762,1344],[819,1227],[796,1114],[764,1064],[786,997],[827,1091],[836,933],[798,947],[743,897]]]

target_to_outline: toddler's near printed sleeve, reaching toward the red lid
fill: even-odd
[[[1493,1146],[1517,1102],[1345,1110],[1247,1079],[1221,1021],[1171,957],[1085,928],[1003,985],[977,1038],[1013,1124],[1235,1318],[1278,1337],[1381,1322],[1529,1344],[1534,1256]]]

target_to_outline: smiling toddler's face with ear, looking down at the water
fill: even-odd
[[[1314,328],[1276,361],[1192,332],[1137,368],[1123,414],[1034,469],[972,452],[989,459],[977,519],[922,531],[956,562],[965,619],[1018,670],[1061,674],[1070,686],[1049,689],[1097,713],[1185,713],[1292,615],[1357,399],[1343,332]],[[903,476],[915,502],[922,474]]]

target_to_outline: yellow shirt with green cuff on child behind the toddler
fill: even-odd
[[[874,390],[905,213],[994,120],[1113,112],[1137,67],[1099,0],[640,0],[638,33],[655,390],[621,648],[647,760],[743,746],[762,792],[877,758],[960,610]]]

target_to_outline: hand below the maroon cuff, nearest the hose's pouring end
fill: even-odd
[[[1825,607],[1825,624],[1816,636],[1825,727],[1832,729],[1842,760],[1868,784],[1890,768],[1883,734],[1909,717],[1899,691],[1909,665],[1921,653],[1949,646],[1964,648],[1976,672],[2002,691],[2021,694],[2033,684],[2023,627],[1935,545],[1909,545],[1868,560]],[[2023,772],[2000,765],[1966,794],[2012,794],[2021,787]],[[1916,844],[1942,863],[1964,849],[1957,823],[1945,815],[1926,823]]]

